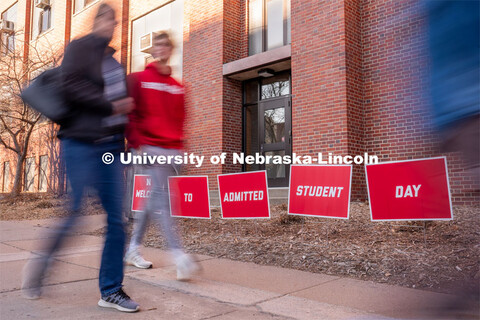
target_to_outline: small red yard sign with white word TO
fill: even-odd
[[[210,219],[207,176],[169,177],[168,192],[172,217]]]

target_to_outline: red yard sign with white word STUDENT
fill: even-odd
[[[351,165],[292,165],[288,214],[348,219]]]

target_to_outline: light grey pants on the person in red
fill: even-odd
[[[148,145],[142,146],[140,153],[143,152],[147,153],[149,156],[180,155],[180,152],[176,149],[164,149]],[[152,220],[157,229],[159,229],[159,227],[162,229],[169,249],[182,249],[180,238],[174,230],[173,219],[170,217],[170,200],[168,194],[168,177],[178,175],[180,169],[181,166],[177,164],[154,164],[142,166],[142,173],[147,174],[152,178],[152,192],[144,211],[135,214],[131,243],[135,245],[140,245],[142,243],[148,221]]]

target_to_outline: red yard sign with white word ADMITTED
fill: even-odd
[[[217,176],[222,218],[270,218],[266,171]]]

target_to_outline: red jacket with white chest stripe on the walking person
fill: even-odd
[[[127,78],[135,109],[129,114],[126,137],[130,148],[141,145],[166,149],[183,147],[185,95],[183,86],[170,76],[170,68],[162,73],[156,62],[144,71]]]

